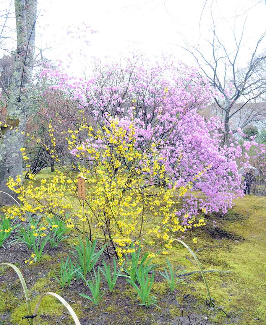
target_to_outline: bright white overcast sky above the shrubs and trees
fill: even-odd
[[[192,63],[178,45],[186,39],[208,53],[210,6],[221,39],[232,49],[234,17],[240,15],[236,20],[239,33],[247,16],[241,54],[245,63],[254,42],[266,29],[264,0],[39,0],[36,45],[51,46],[45,53],[48,59],[65,62],[67,54],[73,52],[70,70],[76,72],[84,67],[84,55],[89,61],[90,56],[120,58],[129,52],[146,53],[151,58],[172,54],[177,60]],[[84,33],[72,27],[82,23],[98,31],[86,33],[90,46],[84,42]],[[71,38],[68,30],[82,38]]]

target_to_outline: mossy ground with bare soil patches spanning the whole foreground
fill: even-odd
[[[38,175],[36,182],[51,174],[44,171]],[[205,270],[224,272],[206,273],[211,295],[215,301],[215,310],[206,307],[206,288],[199,273],[186,276],[186,286],[179,286],[170,292],[166,281],[158,277],[159,271],[166,266],[166,257],[173,266],[180,265],[180,270],[197,271],[193,257],[181,245],[175,244],[167,256],[159,255],[153,260],[158,265],[152,293],[158,298],[162,310],[153,307],[146,309],[138,306],[138,299],[133,288],[120,281],[112,294],[105,294],[96,307],[78,295],[78,287],[61,289],[54,280],[58,275],[61,257],[68,254],[69,239],[54,251],[47,252],[46,258],[31,266],[25,265],[23,257],[18,259],[12,248],[0,249],[0,262],[15,263],[20,268],[36,302],[41,293],[57,292],[64,297],[76,311],[83,324],[179,324],[180,315],[192,314],[197,319],[204,319],[208,313],[208,324],[264,325],[266,324],[266,198],[245,196],[234,201],[235,206],[228,213],[209,214],[207,225],[196,229],[197,243],[190,237],[184,241],[196,252]],[[213,223],[215,221],[216,223]],[[214,225],[216,227],[214,227]],[[10,253],[10,254],[9,254]],[[110,262],[111,264],[111,262]],[[106,283],[102,284],[102,288]],[[184,299],[184,296],[187,298]],[[71,324],[67,312],[52,297],[45,298],[40,308],[39,319],[35,324]],[[207,311],[206,311],[207,310]],[[26,315],[22,288],[16,274],[11,269],[0,267],[0,324],[23,325]],[[91,322],[90,322],[91,320]],[[193,323],[193,322],[192,322]],[[181,323],[180,323],[181,324]],[[186,324],[185,322],[183,324]],[[189,324],[189,323],[188,323]],[[198,323],[199,324],[199,323]],[[205,320],[204,323],[205,324]]]

